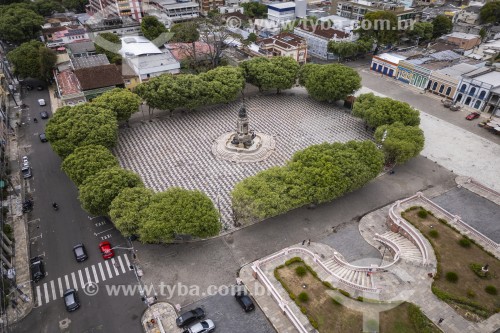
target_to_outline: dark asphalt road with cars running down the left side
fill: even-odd
[[[20,157],[27,155],[33,169],[33,177],[25,184],[35,202],[33,212],[28,215],[30,257],[43,257],[47,275],[34,287],[35,295],[42,296],[39,297],[41,299],[35,300],[35,304],[41,305],[20,323],[14,325],[13,331],[120,332],[123,327],[127,327],[128,332],[141,332],[139,318],[145,310],[145,304],[141,302],[140,296],[111,297],[103,292],[104,283],[116,285],[135,283],[135,274],[128,267],[124,267],[126,272],[119,271],[121,274],[115,276],[111,267],[113,278],[107,276],[107,281],[104,282],[98,266],[100,264],[106,272],[107,267],[98,248],[100,241],[108,240],[113,246],[123,248],[128,247],[127,241],[109,222],[102,217],[89,217],[80,207],[77,188],[61,170],[61,159],[52,151],[49,143],[42,143],[39,140],[38,134],[44,132],[47,122],[40,118],[39,112],[50,113],[48,94],[47,89],[32,90],[24,94],[23,102],[29,106],[29,110],[21,112],[20,121],[23,125],[18,130],[21,148],[19,155]],[[44,98],[47,106],[39,106],[37,102],[39,98]],[[38,123],[33,122],[34,117],[38,119]],[[52,202],[58,203],[60,207],[58,211],[52,209]],[[88,252],[89,259],[83,263],[76,262],[73,256],[73,246],[78,243],[85,244]],[[123,258],[122,264],[125,266],[124,254],[130,256],[130,252],[116,249],[115,253]],[[66,289],[65,276],[71,283],[71,273],[74,273],[76,280],[80,282],[77,284],[81,286],[78,271],[83,273],[86,282],[95,281],[92,265],[96,268],[101,282],[99,284],[101,292],[90,297],[79,290],[81,308],[74,313],[66,312],[59,295],[58,282],[61,281],[62,289]],[[87,279],[84,268],[89,269],[91,279]],[[44,284],[47,284],[48,298]],[[40,293],[37,293],[37,287],[40,287]]]

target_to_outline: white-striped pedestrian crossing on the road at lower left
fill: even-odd
[[[130,261],[127,254],[79,269],[57,279],[36,286],[36,305],[42,306],[62,298],[65,290],[80,290],[92,283],[100,283],[129,271]]]

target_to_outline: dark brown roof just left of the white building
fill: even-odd
[[[122,75],[114,64],[76,69],[75,75],[82,90],[124,84]]]

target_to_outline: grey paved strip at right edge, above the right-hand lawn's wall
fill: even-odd
[[[495,242],[500,242],[500,207],[466,188],[454,188],[432,201],[458,215],[470,226],[488,236]]]

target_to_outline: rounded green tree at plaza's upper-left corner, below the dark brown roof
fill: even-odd
[[[127,121],[139,111],[142,100],[128,89],[115,88],[94,98],[92,104],[109,109],[116,115],[118,121]]]

